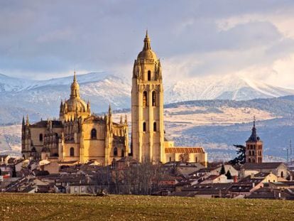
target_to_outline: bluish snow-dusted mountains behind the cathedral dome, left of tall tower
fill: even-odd
[[[92,112],[129,107],[131,85],[106,72],[77,75],[80,94],[90,101]],[[51,80],[24,80],[0,75],[0,124],[20,122],[27,113],[33,121],[58,117],[61,99],[70,97],[72,76]]]

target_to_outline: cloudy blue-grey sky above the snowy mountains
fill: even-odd
[[[0,73],[131,78],[146,29],[163,76],[242,75],[294,88],[294,1],[0,0]]]

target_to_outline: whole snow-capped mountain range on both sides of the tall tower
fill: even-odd
[[[131,83],[108,72],[77,75],[82,99],[91,102],[92,112],[131,107]],[[164,81],[165,82],[165,81]],[[32,121],[58,117],[61,99],[70,96],[72,76],[51,80],[26,80],[0,75],[0,124],[20,122],[29,114]],[[234,99],[281,97],[294,90],[266,85],[245,77],[205,77],[170,82],[165,87],[165,103],[197,99]]]

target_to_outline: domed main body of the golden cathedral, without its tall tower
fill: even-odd
[[[89,102],[80,97],[76,76],[70,87],[70,99],[60,103],[60,119],[41,120],[30,124],[23,118],[21,153],[23,158],[48,159],[50,161],[97,161],[109,165],[113,159],[129,154],[127,119],[119,124],[112,122],[111,108],[108,114],[91,114]]]

